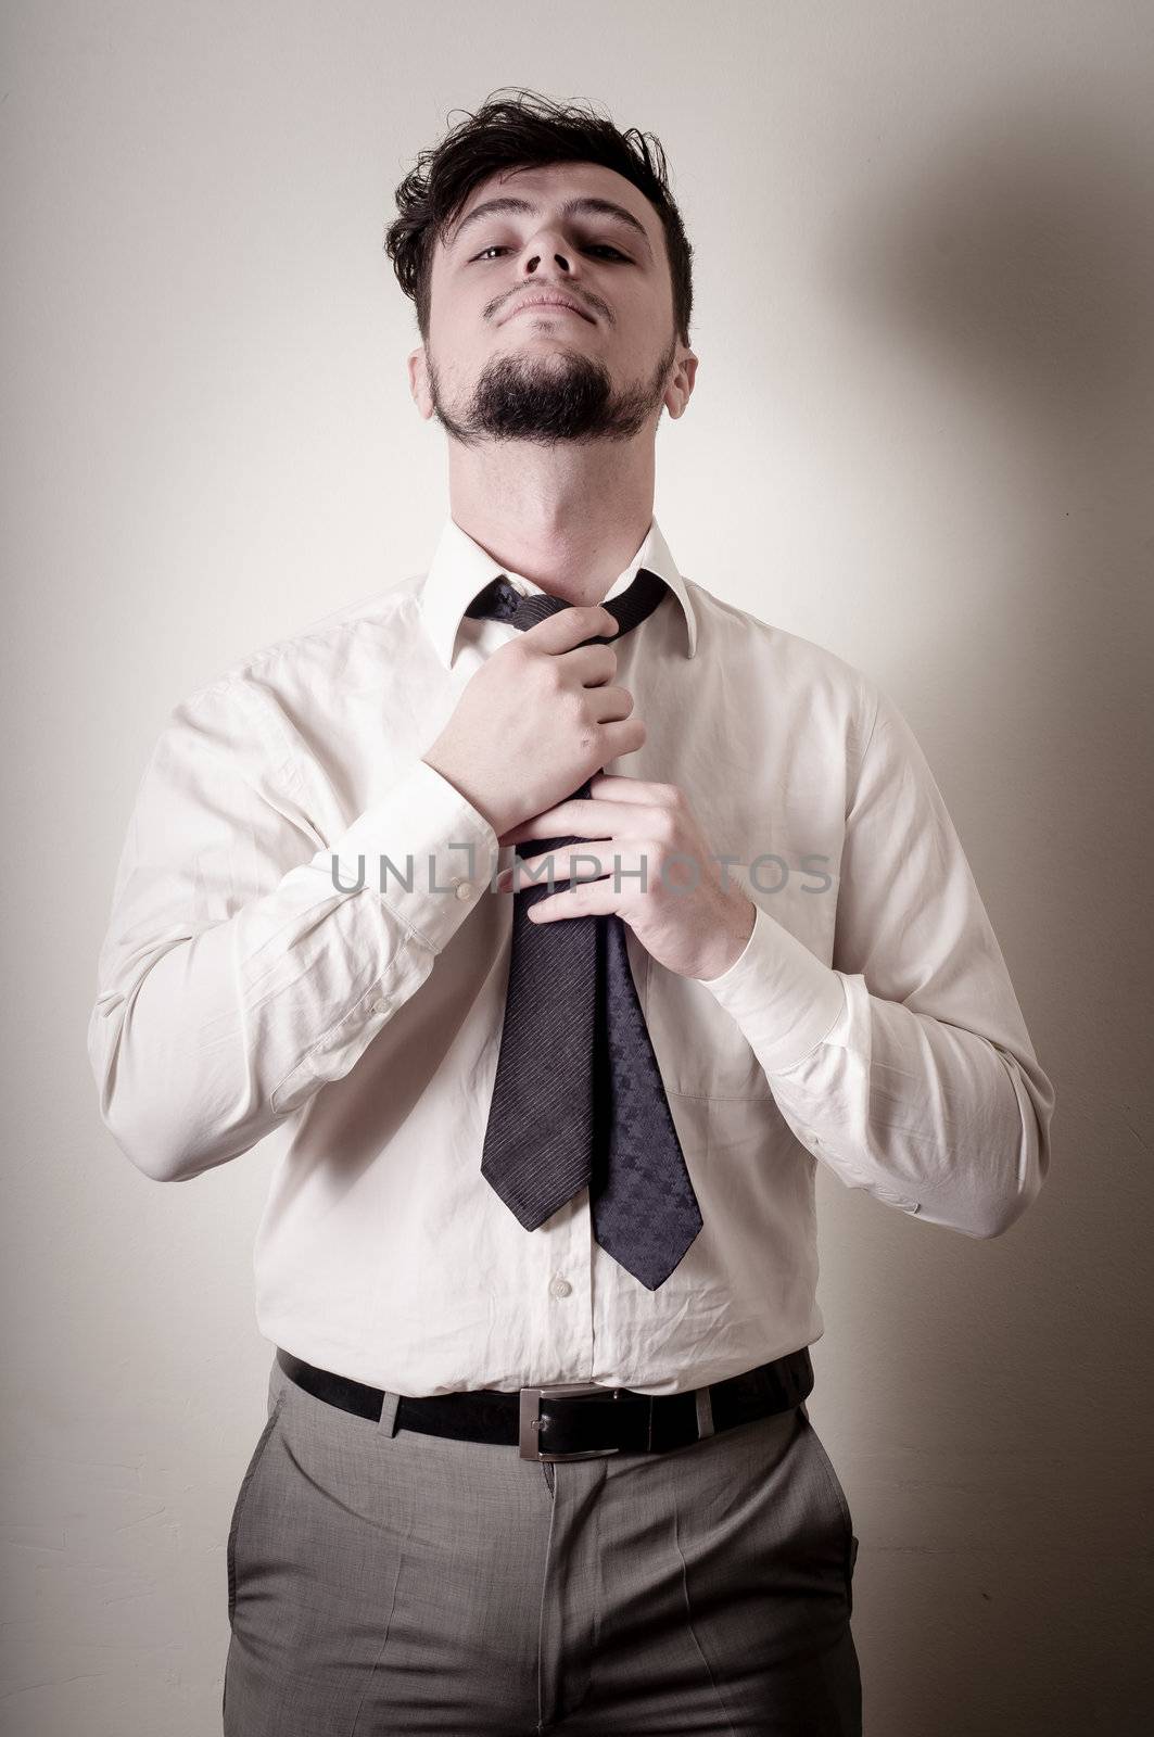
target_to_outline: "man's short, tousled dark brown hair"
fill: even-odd
[[[494,92],[474,115],[466,113],[440,144],[421,151],[396,189],[398,215],[386,229],[384,248],[396,281],[417,306],[421,337],[429,335],[433,247],[438,236],[488,175],[546,163],[600,163],[645,195],[666,231],[673,316],[681,342],[688,344],[693,250],[669,189],[660,141],[636,127],[620,132],[593,106],[553,102],[534,90],[516,90],[509,97]]]

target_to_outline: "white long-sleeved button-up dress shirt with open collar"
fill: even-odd
[[[587,1190],[527,1232],[480,1174],[516,851],[421,759],[518,632],[464,617],[502,571],[478,544],[448,519],[428,575],[200,688],[141,778],[89,1028],[101,1113],[158,1181],[275,1143],[257,1327],[323,1369],[405,1395],[702,1386],[820,1337],[819,1162],[970,1237],[1046,1176],[1053,1091],[909,726],[685,578],[655,521],[608,596],[641,565],[669,594],[613,650],[647,742],[607,771],[680,785],[756,905],[709,981],[626,926],[704,1218],[657,1291],[594,1244]]]

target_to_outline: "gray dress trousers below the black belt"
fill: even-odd
[[[805,1405],[544,1464],[273,1362],[228,1537],[224,1737],[860,1737],[857,1539]]]

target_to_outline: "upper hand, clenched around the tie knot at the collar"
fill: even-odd
[[[617,617],[600,603],[556,610],[469,677],[452,717],[421,756],[501,837],[563,802],[607,761],[633,754],[645,724],[617,674]]]

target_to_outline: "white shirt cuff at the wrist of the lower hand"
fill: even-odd
[[[834,1028],[846,1007],[841,974],[754,905],[749,940],[728,971],[699,978],[737,1021],[766,1073],[786,1073]]]

